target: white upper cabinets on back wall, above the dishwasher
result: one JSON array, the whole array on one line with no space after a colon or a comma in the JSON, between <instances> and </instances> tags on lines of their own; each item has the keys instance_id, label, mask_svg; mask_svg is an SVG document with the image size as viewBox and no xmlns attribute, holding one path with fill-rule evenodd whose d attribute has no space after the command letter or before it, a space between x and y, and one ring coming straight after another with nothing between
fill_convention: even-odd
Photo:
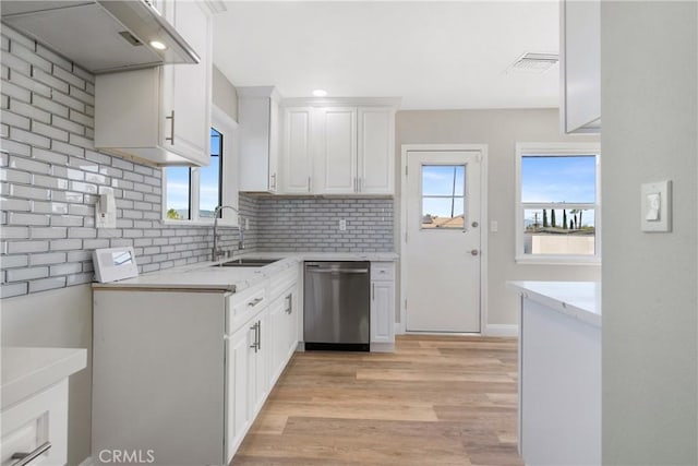
<instances>
[{"instance_id":1,"label":"white upper cabinets on back wall, above the dishwasher","mask_svg":"<svg viewBox=\"0 0 698 466\"><path fill-rule=\"evenodd\" d=\"M280 193L393 194L396 104L390 104L284 106Z\"/></svg>"}]
</instances>

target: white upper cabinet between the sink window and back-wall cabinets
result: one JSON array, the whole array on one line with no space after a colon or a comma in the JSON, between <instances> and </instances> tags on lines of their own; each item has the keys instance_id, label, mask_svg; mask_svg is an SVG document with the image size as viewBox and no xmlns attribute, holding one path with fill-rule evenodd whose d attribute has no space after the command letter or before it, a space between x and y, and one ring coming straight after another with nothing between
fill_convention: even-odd
<instances>
[{"instance_id":1,"label":"white upper cabinet between the sink window and back-wall cabinets","mask_svg":"<svg viewBox=\"0 0 698 466\"><path fill-rule=\"evenodd\" d=\"M272 86L238 87L240 191L276 192L279 97Z\"/></svg>"}]
</instances>

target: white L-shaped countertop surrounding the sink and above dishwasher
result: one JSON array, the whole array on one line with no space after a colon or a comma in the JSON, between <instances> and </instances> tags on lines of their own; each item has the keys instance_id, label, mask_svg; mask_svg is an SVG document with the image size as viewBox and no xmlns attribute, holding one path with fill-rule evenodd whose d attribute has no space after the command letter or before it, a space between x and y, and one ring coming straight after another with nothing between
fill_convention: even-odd
<instances>
[{"instance_id":1,"label":"white L-shaped countertop surrounding the sink and above dishwasher","mask_svg":"<svg viewBox=\"0 0 698 466\"><path fill-rule=\"evenodd\" d=\"M281 259L263 267L218 267L216 264L240 258ZM395 261L388 252L250 252L217 262L167 268L112 283L95 283L93 289L148 288L240 291L301 261ZM137 258L136 258L137 262Z\"/></svg>"}]
</instances>

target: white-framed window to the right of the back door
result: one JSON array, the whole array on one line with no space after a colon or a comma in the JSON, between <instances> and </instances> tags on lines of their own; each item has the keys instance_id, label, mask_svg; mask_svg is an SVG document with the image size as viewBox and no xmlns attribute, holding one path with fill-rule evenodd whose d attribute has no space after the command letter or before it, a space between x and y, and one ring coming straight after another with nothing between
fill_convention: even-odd
<instances>
[{"instance_id":1,"label":"white-framed window to the right of the back door","mask_svg":"<svg viewBox=\"0 0 698 466\"><path fill-rule=\"evenodd\" d=\"M601 261L601 153L597 143L516 146L516 261Z\"/></svg>"}]
</instances>

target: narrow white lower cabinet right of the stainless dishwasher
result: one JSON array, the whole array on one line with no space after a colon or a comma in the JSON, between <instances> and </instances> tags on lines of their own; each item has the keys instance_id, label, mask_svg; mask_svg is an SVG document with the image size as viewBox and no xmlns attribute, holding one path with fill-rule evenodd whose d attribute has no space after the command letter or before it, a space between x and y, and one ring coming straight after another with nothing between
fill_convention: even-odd
<instances>
[{"instance_id":1,"label":"narrow white lower cabinet right of the stainless dishwasher","mask_svg":"<svg viewBox=\"0 0 698 466\"><path fill-rule=\"evenodd\" d=\"M395 264L371 263L371 351L395 350Z\"/></svg>"}]
</instances>

